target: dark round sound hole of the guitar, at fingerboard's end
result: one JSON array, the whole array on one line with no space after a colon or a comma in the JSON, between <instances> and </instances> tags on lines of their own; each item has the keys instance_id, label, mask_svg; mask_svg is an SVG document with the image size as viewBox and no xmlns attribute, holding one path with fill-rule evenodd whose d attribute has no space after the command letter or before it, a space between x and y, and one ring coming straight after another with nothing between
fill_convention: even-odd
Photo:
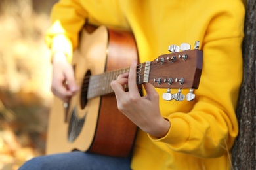
<instances>
[{"instance_id":1,"label":"dark round sound hole of the guitar, at fingerboard's end","mask_svg":"<svg viewBox=\"0 0 256 170\"><path fill-rule=\"evenodd\" d=\"M89 84L89 78L91 76L91 71L87 71L84 78L83 78L83 84L81 86L81 98L80 98L80 104L81 109L84 109L87 104L87 92L88 92L88 84Z\"/></svg>"}]
</instances>

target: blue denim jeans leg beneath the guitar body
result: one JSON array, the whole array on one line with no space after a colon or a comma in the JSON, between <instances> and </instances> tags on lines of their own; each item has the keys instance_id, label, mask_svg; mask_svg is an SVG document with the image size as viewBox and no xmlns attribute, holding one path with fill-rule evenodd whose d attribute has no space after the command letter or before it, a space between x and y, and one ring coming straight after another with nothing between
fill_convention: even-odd
<instances>
[{"instance_id":1,"label":"blue denim jeans leg beneath the guitar body","mask_svg":"<svg viewBox=\"0 0 256 170\"><path fill-rule=\"evenodd\" d=\"M131 169L130 158L116 158L85 152L68 152L64 154L52 154L39 156L27 161L19 170L36 169Z\"/></svg>"}]
</instances>

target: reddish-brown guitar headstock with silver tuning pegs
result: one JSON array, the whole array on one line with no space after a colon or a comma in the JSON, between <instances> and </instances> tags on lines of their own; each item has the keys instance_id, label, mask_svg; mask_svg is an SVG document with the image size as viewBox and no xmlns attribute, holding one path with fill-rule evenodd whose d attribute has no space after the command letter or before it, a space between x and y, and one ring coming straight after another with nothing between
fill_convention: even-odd
<instances>
[{"instance_id":1,"label":"reddish-brown guitar headstock with silver tuning pegs","mask_svg":"<svg viewBox=\"0 0 256 170\"><path fill-rule=\"evenodd\" d=\"M190 88L186 99L194 99L193 89L197 89L200 83L203 64L203 51L198 50L199 42L196 41L195 49L190 50L190 45L183 43L181 46L169 46L170 54L158 56L154 61L146 62L137 69L144 71L138 78L138 84L149 82L155 88L167 88L163 99L177 101L184 100L181 90ZM171 89L179 89L178 93L171 94Z\"/></svg>"}]
</instances>

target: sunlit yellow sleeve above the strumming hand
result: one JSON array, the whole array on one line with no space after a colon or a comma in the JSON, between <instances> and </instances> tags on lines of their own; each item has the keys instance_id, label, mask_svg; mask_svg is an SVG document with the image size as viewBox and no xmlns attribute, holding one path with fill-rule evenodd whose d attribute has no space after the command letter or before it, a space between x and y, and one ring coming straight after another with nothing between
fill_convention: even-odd
<instances>
[{"instance_id":1,"label":"sunlit yellow sleeve above the strumming hand","mask_svg":"<svg viewBox=\"0 0 256 170\"><path fill-rule=\"evenodd\" d=\"M52 55L62 51L68 61L72 61L72 53L77 48L79 31L85 24L87 12L77 0L60 0L53 7L51 22L53 25L45 35L47 46Z\"/></svg>"}]
</instances>

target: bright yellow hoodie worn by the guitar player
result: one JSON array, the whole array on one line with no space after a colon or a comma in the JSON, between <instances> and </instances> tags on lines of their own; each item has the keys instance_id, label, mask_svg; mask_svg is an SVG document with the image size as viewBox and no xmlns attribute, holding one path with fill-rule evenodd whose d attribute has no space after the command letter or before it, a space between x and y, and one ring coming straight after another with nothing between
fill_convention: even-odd
<instances>
[{"instance_id":1,"label":"bright yellow hoodie worn by the guitar player","mask_svg":"<svg viewBox=\"0 0 256 170\"><path fill-rule=\"evenodd\" d=\"M131 168L230 169L229 150L238 135L234 110L242 81L244 14L242 0L60 0L45 39L52 52L62 50L71 61L86 19L132 31L140 63L166 54L170 44L200 41L203 71L196 100L160 99L171 128L161 139L139 130Z\"/></svg>"}]
</instances>

